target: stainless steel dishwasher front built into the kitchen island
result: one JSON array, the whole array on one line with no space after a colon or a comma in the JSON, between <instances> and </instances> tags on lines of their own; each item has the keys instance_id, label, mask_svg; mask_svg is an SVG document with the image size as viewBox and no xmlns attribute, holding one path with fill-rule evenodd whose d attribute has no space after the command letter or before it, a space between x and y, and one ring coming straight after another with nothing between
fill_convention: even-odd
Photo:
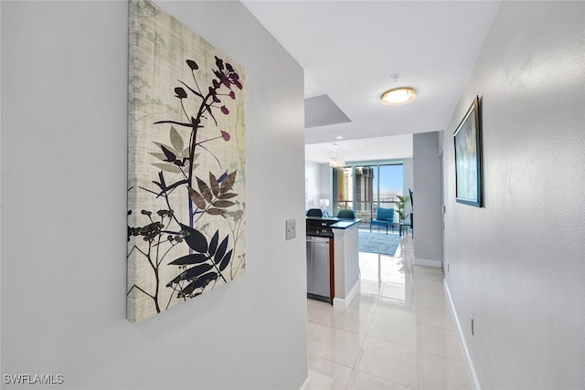
<instances>
[{"instance_id":1,"label":"stainless steel dishwasher front built into the kitchen island","mask_svg":"<svg viewBox=\"0 0 585 390\"><path fill-rule=\"evenodd\" d=\"M331 303L329 237L307 236L307 298Z\"/></svg>"}]
</instances>

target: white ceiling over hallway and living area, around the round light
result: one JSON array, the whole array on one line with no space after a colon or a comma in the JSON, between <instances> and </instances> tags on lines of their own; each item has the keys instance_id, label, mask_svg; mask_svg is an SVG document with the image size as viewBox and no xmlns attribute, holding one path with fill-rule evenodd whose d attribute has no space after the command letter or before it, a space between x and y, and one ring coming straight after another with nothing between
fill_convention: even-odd
<instances>
[{"instance_id":1,"label":"white ceiling over hallway and living area, around the round light","mask_svg":"<svg viewBox=\"0 0 585 390\"><path fill-rule=\"evenodd\" d=\"M499 0L242 3L303 67L305 98L326 94L351 120L305 129L305 158L318 163L335 156L335 142L346 161L410 157L412 137L392 136L445 130L500 5ZM390 79L395 73L401 75L396 82ZM417 90L417 99L399 107L380 103L385 90L402 86ZM405 139L410 155L391 154Z\"/></svg>"}]
</instances>

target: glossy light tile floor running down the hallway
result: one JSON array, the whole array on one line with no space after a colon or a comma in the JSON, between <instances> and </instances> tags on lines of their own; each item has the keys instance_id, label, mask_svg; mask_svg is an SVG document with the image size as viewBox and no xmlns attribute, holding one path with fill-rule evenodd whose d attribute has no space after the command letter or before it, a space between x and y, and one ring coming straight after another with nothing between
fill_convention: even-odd
<instances>
[{"instance_id":1,"label":"glossy light tile floor running down the hallway","mask_svg":"<svg viewBox=\"0 0 585 390\"><path fill-rule=\"evenodd\" d=\"M310 388L470 389L441 269L359 253L361 290L346 311L307 300Z\"/></svg>"}]
</instances>

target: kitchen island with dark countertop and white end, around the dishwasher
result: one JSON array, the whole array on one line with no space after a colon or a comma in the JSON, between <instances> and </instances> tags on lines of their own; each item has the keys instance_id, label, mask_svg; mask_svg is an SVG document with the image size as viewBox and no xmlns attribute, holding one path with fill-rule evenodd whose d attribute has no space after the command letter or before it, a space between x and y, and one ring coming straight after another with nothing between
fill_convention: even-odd
<instances>
[{"instance_id":1,"label":"kitchen island with dark countertop and white end, around the dishwasher","mask_svg":"<svg viewBox=\"0 0 585 390\"><path fill-rule=\"evenodd\" d=\"M361 219L307 217L308 237L333 237L330 282L332 303L337 309L347 309L359 290L357 227L360 222Z\"/></svg>"}]
</instances>

